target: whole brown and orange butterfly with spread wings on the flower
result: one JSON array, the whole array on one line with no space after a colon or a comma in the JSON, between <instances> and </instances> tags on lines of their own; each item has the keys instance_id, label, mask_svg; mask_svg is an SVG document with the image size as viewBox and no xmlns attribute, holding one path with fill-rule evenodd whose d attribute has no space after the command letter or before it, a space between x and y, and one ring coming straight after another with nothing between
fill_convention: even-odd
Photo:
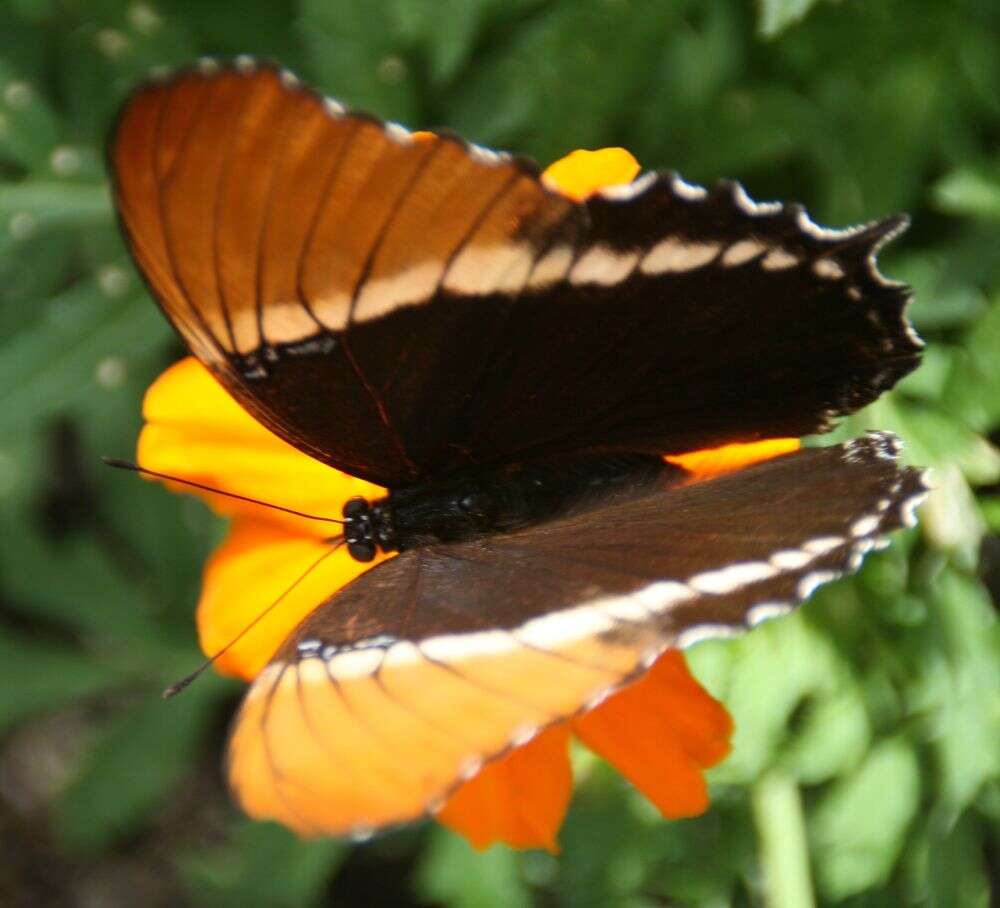
<instances>
[{"instance_id":1,"label":"whole brown and orange butterfly with spread wings on the flower","mask_svg":"<svg viewBox=\"0 0 1000 908\"><path fill-rule=\"evenodd\" d=\"M337 834L433 811L665 648L856 569L926 493L887 433L707 481L664 460L827 431L916 366L908 290L875 264L905 218L826 230L658 172L574 201L247 58L138 88L108 160L195 356L389 490L345 503L343 541L398 554L317 603L235 720L254 816Z\"/></svg>"}]
</instances>

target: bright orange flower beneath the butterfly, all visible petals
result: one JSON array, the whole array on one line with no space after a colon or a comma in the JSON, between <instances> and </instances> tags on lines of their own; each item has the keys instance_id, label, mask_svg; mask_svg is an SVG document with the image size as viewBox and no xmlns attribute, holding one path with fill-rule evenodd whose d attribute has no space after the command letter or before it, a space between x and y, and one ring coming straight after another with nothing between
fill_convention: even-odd
<instances>
[{"instance_id":1,"label":"bright orange flower beneath the butterfly, all visible petals","mask_svg":"<svg viewBox=\"0 0 1000 908\"><path fill-rule=\"evenodd\" d=\"M553 164L544 180L574 199L584 199L604 186L631 181L638 170L635 159L623 149L578 151ZM281 441L194 359L176 364L153 384L143 415L146 426L138 459L148 469L331 516L339 516L343 502L352 496L371 499L385 493ZM777 439L670 459L689 469L697 481L797 445L792 439ZM324 540L336 528L219 495L198 494L232 519L228 537L206 566L198 604L201 646L212 654L329 549ZM291 589L280 607L236 642L216 667L252 679L318 603L377 563L357 562L341 548ZM571 735L615 765L665 817L693 816L708 804L702 770L726 755L731 730L723 707L691 677L683 656L669 650L644 677L597 708L548 728L487 764L457 789L438 819L477 848L501 841L556 850L556 834L572 787L567 750Z\"/></svg>"}]
</instances>

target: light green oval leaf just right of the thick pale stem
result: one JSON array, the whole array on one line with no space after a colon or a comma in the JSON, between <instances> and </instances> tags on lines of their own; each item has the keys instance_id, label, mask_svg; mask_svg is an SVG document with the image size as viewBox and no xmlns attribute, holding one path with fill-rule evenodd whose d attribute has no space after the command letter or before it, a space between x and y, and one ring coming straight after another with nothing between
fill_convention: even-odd
<instances>
[{"instance_id":1,"label":"light green oval leaf just right of the thick pale stem","mask_svg":"<svg viewBox=\"0 0 1000 908\"><path fill-rule=\"evenodd\" d=\"M920 766L902 739L878 744L810 812L817 884L831 900L888 879L920 807Z\"/></svg>"}]
</instances>

